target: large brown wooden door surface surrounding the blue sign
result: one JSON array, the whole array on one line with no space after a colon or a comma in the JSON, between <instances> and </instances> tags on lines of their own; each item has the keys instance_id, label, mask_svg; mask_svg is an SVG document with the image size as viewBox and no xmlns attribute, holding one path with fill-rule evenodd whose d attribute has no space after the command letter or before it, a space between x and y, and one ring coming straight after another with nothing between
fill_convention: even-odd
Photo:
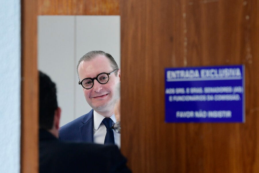
<instances>
[{"instance_id":1,"label":"large brown wooden door surface surrounding the blue sign","mask_svg":"<svg viewBox=\"0 0 259 173\"><path fill-rule=\"evenodd\" d=\"M259 172L258 6L121 1L121 142L133 172ZM232 64L245 65L245 123L164 123L165 67Z\"/></svg>"}]
</instances>

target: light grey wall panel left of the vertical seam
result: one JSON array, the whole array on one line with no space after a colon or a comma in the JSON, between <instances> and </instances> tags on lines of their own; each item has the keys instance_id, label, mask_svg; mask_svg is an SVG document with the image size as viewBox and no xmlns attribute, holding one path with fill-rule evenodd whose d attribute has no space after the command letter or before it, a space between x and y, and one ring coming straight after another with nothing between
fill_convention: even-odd
<instances>
[{"instance_id":1,"label":"light grey wall panel left of the vertical seam","mask_svg":"<svg viewBox=\"0 0 259 173\"><path fill-rule=\"evenodd\" d=\"M38 16L38 67L56 83L60 125L74 119L75 16Z\"/></svg>"}]
</instances>

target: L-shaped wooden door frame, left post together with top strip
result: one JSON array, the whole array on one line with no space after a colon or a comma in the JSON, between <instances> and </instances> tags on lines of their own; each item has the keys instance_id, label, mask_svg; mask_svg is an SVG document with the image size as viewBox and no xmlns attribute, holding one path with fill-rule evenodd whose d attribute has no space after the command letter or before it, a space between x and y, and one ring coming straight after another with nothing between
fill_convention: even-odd
<instances>
[{"instance_id":1,"label":"L-shaped wooden door frame, left post together with top strip","mask_svg":"<svg viewBox=\"0 0 259 173\"><path fill-rule=\"evenodd\" d=\"M37 15L119 15L119 0L22 0L21 172L38 172Z\"/></svg>"}]
</instances>

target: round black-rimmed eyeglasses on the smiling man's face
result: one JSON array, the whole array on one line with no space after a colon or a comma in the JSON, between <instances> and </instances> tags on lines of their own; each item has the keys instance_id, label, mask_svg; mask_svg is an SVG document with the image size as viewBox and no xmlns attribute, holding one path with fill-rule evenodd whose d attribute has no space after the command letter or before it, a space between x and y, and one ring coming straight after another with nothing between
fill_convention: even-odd
<instances>
[{"instance_id":1,"label":"round black-rimmed eyeglasses on the smiling man's face","mask_svg":"<svg viewBox=\"0 0 259 173\"><path fill-rule=\"evenodd\" d=\"M94 86L94 80L96 79L100 84L106 84L109 81L109 75L116 72L118 69L113 70L111 73L100 73L96 78L85 78L78 84L82 85L85 89L91 89Z\"/></svg>"}]
</instances>

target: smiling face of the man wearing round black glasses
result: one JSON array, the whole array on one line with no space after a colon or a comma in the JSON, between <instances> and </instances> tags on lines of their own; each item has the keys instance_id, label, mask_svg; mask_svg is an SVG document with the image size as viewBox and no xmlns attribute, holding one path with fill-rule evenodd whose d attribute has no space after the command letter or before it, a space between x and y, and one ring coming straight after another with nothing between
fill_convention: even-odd
<instances>
[{"instance_id":1,"label":"smiling face of the man wearing round black glasses","mask_svg":"<svg viewBox=\"0 0 259 173\"><path fill-rule=\"evenodd\" d=\"M110 73L113 69L107 57L98 55L89 61L82 61L78 67L78 76L80 81L85 78L95 78L100 73ZM120 70L118 73L109 75L109 81L106 84L100 84L94 80L94 86L91 89L82 87L85 100L99 114L111 116L116 101L115 86L120 82ZM105 115L104 115L105 114Z\"/></svg>"}]
</instances>

